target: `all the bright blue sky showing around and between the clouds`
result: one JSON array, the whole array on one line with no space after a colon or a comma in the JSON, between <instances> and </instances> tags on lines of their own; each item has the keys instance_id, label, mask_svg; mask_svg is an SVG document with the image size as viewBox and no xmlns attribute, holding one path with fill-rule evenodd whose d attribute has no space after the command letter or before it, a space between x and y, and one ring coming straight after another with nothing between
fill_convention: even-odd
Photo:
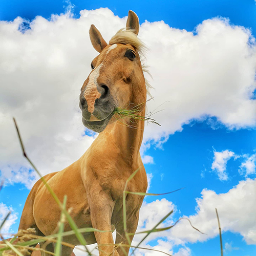
<instances>
[{"instance_id":1,"label":"all the bright blue sky showing around and between the clouds","mask_svg":"<svg viewBox=\"0 0 256 256\"><path fill-rule=\"evenodd\" d=\"M75 19L79 18L80 10L84 9L94 10L100 7L104 7L110 9L115 15L119 17L126 16L127 12L131 9L137 13L140 19L140 24L144 23L144 20L148 20L148 22L151 23L163 20L165 24L168 24L172 28L193 31L196 35L197 33L195 31L195 27L198 24L201 24L206 19L221 16L229 18L231 27L232 25L243 26L250 29L252 36L256 36L256 5L252 0L176 0L139 2L71 1L71 4L74 5L72 12L74 13L73 17ZM20 16L31 21L38 15L49 19L51 14L60 14L65 12L68 5L69 3L63 1L27 0L10 2L3 0L0 3L0 20L12 21L17 16ZM92 48L90 51L91 50ZM152 57L152 59L154 58ZM90 62L88 63L90 65ZM156 80L155 73L157 74L157 72L154 71L154 63L151 66L153 69L152 74L154 80ZM256 71L255 67L256 66L253 66L252 68L252 71L254 69L254 75ZM228 76L228 72L226 73ZM152 83L153 86L155 86L154 81ZM249 86L253 86L253 84L250 84ZM155 86L155 88L157 90L157 86ZM197 89L195 89L195 95L196 94ZM191 98L193 97L194 94L191 95ZM253 99L253 95L250 96L250 98ZM218 101L218 98L216 100ZM223 99L220 99L220 104L222 101ZM73 108L75 108L75 103L72 102L72 104L73 105L71 105L70 108L73 110ZM225 110L223 110L223 112L225 112ZM10 113L12 113L11 110ZM245 163L246 160L248 160L250 157L253 157L256 151L255 120L252 120L250 124L246 123L245 125L242 123L242 121L240 122L240 120L233 121L233 123L231 123L233 125L232 126L230 121L226 121L226 119L221 116L221 114L219 116L216 114L215 116L214 114L211 114L211 112L207 113L207 111L205 111L204 114L206 114L206 116L203 118L201 114L200 118L199 114L195 114L194 117L188 116L186 119L181 121L177 125L181 125L182 129L177 126L178 128L176 127L170 130L165 137L168 138L167 141L162 143L161 146L157 144L156 139L148 140L150 141L148 142L150 143L150 148L145 151L145 154L151 156L154 159L153 163L145 164L147 173L150 175L150 177L152 177L150 191L152 193L165 193L181 187L184 187L184 189L174 194L160 196L157 198L146 197L145 202L150 204L155 202L157 199L161 200L162 198L172 202L176 206L176 212L173 220L177 220L182 216L189 217L197 215L196 207L198 206L198 201L196 201L196 198L201 198L203 189L207 189L208 191L213 190L217 195L228 194L229 190L236 187L239 182L247 182L248 178L253 181L256 179L255 167L254 172L251 172L247 176L242 174L241 171L239 172L239 170L241 170L242 164ZM207 115L211 115L211 117L207 117ZM155 118L158 120L157 115ZM151 129L151 127L152 126L150 126L148 129ZM154 129L156 128L154 127ZM149 136L150 138L151 133L148 132L148 134L149 135L146 136ZM86 137L91 137L91 134L86 133ZM90 141L90 138L88 138L88 140ZM17 146L17 144L15 145ZM216 160L215 153L223 153L224 151L231 152L229 153L230 157L228 157L225 162L223 155L222 160L224 159L224 162L220 163ZM38 152L40 152L40 150L38 150ZM228 176L226 180L221 180L220 176L218 176L218 174L220 174L218 173L218 170L220 169L212 168L212 164L215 162L215 160L222 164L222 167L220 168L224 168L224 170L222 170ZM251 160L252 163L253 161L254 160ZM255 162L256 160L254 163ZM26 178L27 176L24 177L24 179ZM24 185L23 182L14 182L13 184L9 184L5 186L1 191L0 202L7 205L8 207L12 206L13 210L18 213L18 219L16 223L11 226L13 231L17 230L18 221L21 216L28 193L29 189ZM239 193L241 193L241 191ZM230 198L230 200L236 200L236 198ZM251 204L253 204L253 201ZM246 214L248 215L248 218L252 218L253 212L243 212L243 208L239 209L239 207L237 209L241 210L241 215ZM233 215L233 212L230 212L230 215ZM221 214L220 220L222 222ZM196 224L200 229L200 221L196 222ZM255 255L255 243L254 245L248 244L246 242L245 236L242 234L242 231L236 230L233 227L229 227L228 224L226 230L227 231L223 233L224 244L227 243L225 251L226 255ZM173 233L168 233L168 236L171 235L173 235ZM187 240L184 240L185 246L189 248L190 254L182 254L180 251L180 254L177 255L213 256L220 254L219 237L214 235L211 237L210 234L209 237L210 238L208 240L202 242L191 242L188 238L186 238ZM155 246L158 239L160 238L158 237L148 244ZM254 241L256 241L255 237L254 239ZM164 236L163 240L167 241L168 237ZM177 243L173 248L173 252L178 252L182 246L184 246L184 244Z\"/></svg>"}]
</instances>

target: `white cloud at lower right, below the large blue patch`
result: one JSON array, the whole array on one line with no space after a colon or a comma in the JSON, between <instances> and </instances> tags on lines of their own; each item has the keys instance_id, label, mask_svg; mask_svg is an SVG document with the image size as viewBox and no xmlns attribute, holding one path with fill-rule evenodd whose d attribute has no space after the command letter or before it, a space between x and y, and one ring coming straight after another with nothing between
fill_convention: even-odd
<instances>
[{"instance_id":1,"label":"white cloud at lower right, below the large blue patch","mask_svg":"<svg viewBox=\"0 0 256 256\"><path fill-rule=\"evenodd\" d=\"M205 234L181 221L170 230L176 243L196 243L218 236L219 229L215 208L221 223L222 232L240 233L247 244L256 244L256 179L240 181L227 193L216 194L215 191L204 189L202 197L197 199L196 214L188 219Z\"/></svg>"}]
</instances>

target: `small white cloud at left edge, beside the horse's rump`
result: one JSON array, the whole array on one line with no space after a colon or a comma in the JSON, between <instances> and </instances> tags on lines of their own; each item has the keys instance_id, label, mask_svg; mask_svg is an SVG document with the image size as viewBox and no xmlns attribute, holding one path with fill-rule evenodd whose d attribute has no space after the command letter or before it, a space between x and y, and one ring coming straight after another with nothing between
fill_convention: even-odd
<instances>
[{"instance_id":1,"label":"small white cloud at left edge, beside the horse's rump","mask_svg":"<svg viewBox=\"0 0 256 256\"><path fill-rule=\"evenodd\" d=\"M4 226L1 229L1 233L13 233L13 230L11 229L11 226L16 222L18 219L18 213L15 212L12 208L12 206L7 206L4 203L0 203L0 223L2 223L7 216L8 212L11 212L11 215L5 222ZM5 237L5 236L4 236ZM8 237L8 236L6 236Z\"/></svg>"}]
</instances>

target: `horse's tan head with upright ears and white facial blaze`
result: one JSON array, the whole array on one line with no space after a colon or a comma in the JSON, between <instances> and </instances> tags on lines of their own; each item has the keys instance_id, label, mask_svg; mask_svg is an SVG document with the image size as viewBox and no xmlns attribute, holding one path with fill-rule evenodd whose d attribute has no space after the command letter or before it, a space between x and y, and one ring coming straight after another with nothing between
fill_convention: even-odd
<instances>
[{"instance_id":1,"label":"horse's tan head with upright ears and white facial blaze","mask_svg":"<svg viewBox=\"0 0 256 256\"><path fill-rule=\"evenodd\" d=\"M117 107L136 106L146 100L140 60L144 45L138 32L139 19L133 11L129 11L126 29L119 30L109 45L91 25L90 39L99 55L91 62L92 71L81 88L79 106L83 125L95 132L105 129Z\"/></svg>"}]
</instances>

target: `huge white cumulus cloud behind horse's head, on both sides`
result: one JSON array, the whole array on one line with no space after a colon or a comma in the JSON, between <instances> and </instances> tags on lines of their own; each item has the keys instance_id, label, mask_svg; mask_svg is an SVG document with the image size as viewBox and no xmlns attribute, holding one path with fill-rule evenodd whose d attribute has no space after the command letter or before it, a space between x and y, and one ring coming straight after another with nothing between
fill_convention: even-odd
<instances>
[{"instance_id":1,"label":"huge white cumulus cloud behind horse's head, on both sides","mask_svg":"<svg viewBox=\"0 0 256 256\"><path fill-rule=\"evenodd\" d=\"M20 17L0 22L2 176L29 169L12 116L42 174L68 166L87 150L96 135L84 134L78 95L97 55L88 30L95 24L108 41L125 22L107 8L83 10L78 19L70 12L50 20L37 16L29 30ZM255 126L256 47L249 30L213 18L198 25L195 34L164 22L144 22L139 36L150 49L146 63L154 77L155 99L148 111L164 109L154 115L162 126L147 125L144 143L161 144L191 119L216 116L230 129ZM144 162L153 159L145 156ZM34 182L15 177L12 182L27 187Z\"/></svg>"}]
</instances>

